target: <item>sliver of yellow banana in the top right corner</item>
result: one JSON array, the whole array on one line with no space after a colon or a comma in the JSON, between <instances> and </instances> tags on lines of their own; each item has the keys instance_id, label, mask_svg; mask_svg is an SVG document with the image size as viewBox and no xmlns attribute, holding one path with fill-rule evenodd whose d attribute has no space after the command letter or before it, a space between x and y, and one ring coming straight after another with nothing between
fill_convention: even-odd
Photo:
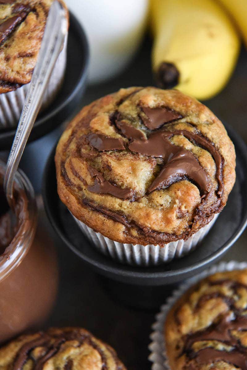
<instances>
[{"instance_id":1,"label":"sliver of yellow banana in the top right corner","mask_svg":"<svg viewBox=\"0 0 247 370\"><path fill-rule=\"evenodd\" d=\"M243 36L247 46L247 0L219 0L235 23Z\"/></svg>"}]
</instances>

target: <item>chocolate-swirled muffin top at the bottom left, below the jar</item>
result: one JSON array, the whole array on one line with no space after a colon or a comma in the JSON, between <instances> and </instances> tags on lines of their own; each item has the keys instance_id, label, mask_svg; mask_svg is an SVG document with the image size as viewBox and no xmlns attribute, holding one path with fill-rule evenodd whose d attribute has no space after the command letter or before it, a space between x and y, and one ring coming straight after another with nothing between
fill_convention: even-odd
<instances>
[{"instance_id":1,"label":"chocolate-swirled muffin top at the bottom left, below the jar","mask_svg":"<svg viewBox=\"0 0 247 370\"><path fill-rule=\"evenodd\" d=\"M1 370L125 370L116 352L81 328L22 335L0 348Z\"/></svg>"}]
</instances>

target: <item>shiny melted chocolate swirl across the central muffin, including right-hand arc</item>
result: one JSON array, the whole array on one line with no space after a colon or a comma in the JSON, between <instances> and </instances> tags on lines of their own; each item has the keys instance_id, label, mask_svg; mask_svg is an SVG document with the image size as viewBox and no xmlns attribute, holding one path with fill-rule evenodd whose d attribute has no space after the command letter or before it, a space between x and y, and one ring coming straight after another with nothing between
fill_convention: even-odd
<instances>
[{"instance_id":1,"label":"shiny melted chocolate swirl across the central muffin, including right-hand arc","mask_svg":"<svg viewBox=\"0 0 247 370\"><path fill-rule=\"evenodd\" d=\"M160 157L164 161L163 168L148 188L148 193L156 189L166 188L174 182L187 178L191 179L198 185L203 197L210 191L210 182L206 171L201 167L194 155L186 149L178 147L170 142L169 139L177 134L184 135L191 141L196 141L211 153L216 162L216 177L219 184L218 195L222 195L222 158L214 145L208 142L206 138L185 130L176 130L174 132L155 131L149 135L148 139L145 139L142 131L129 125L126 121L117 119L115 123L117 128L120 129L125 137L133 140L128 145L128 148L131 151L138 152L149 157ZM122 149L119 139L112 139L113 142L111 142L109 141L109 138L103 138L103 135L89 134L87 135L86 140L92 147L98 150L113 150L117 149L118 145L120 149Z\"/></svg>"}]
</instances>

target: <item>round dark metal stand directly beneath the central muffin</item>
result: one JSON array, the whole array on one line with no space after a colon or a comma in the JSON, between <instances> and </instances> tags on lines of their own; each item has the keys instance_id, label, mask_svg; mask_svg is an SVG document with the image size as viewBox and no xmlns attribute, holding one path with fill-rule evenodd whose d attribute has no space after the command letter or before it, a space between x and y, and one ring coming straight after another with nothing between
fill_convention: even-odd
<instances>
[{"instance_id":1,"label":"round dark metal stand directly beneath the central muffin","mask_svg":"<svg viewBox=\"0 0 247 370\"><path fill-rule=\"evenodd\" d=\"M91 268L119 282L150 286L170 285L195 275L220 259L247 224L247 147L233 128L226 128L236 148L236 184L215 225L200 246L189 255L164 265L147 268L122 265L101 255L84 237L57 195L55 148L50 154L43 180L44 204L53 228L63 242L84 262L91 265Z\"/></svg>"}]
</instances>

